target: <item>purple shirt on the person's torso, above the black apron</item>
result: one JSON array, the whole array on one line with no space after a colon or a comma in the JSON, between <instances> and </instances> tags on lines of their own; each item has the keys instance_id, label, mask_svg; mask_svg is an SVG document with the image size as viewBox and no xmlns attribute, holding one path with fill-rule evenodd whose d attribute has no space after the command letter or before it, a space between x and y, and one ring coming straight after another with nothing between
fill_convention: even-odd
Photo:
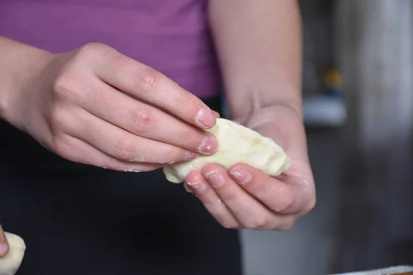
<instances>
[{"instance_id":1,"label":"purple shirt on the person's torso, above the black apron","mask_svg":"<svg viewBox=\"0 0 413 275\"><path fill-rule=\"evenodd\" d=\"M207 0L0 0L0 35L50 52L105 43L200 98L220 92Z\"/></svg>"}]
</instances>

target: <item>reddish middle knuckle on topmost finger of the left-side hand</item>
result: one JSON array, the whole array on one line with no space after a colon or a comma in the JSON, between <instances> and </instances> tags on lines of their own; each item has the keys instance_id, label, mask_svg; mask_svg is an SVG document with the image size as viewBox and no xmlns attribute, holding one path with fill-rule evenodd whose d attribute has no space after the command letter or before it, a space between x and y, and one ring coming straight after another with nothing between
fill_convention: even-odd
<instances>
[{"instance_id":1,"label":"reddish middle knuckle on topmost finger of the left-side hand","mask_svg":"<svg viewBox=\"0 0 413 275\"><path fill-rule=\"evenodd\" d=\"M160 72L150 67L144 69L137 69L131 74L131 81L135 83L140 89L145 91L156 91L162 85L163 76Z\"/></svg>"}]
</instances>

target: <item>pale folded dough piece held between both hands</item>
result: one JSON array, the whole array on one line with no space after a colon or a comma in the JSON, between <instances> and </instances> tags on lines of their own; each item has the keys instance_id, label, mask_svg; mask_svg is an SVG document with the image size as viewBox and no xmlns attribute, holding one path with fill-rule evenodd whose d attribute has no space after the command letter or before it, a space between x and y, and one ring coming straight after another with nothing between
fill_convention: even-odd
<instances>
[{"instance_id":1,"label":"pale folded dough piece held between both hands","mask_svg":"<svg viewBox=\"0 0 413 275\"><path fill-rule=\"evenodd\" d=\"M218 151L188 162L164 166L163 171L168 181L182 183L192 170L200 170L210 163L230 168L233 164L242 162L271 176L280 175L290 166L290 159L281 146L241 124L218 118L215 126L207 131L217 137Z\"/></svg>"}]
</instances>

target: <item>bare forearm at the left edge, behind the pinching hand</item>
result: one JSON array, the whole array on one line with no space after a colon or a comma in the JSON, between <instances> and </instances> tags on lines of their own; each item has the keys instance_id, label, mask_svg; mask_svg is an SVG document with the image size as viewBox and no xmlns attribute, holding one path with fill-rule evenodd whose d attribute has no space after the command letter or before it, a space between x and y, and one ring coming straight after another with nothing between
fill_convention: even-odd
<instances>
[{"instance_id":1,"label":"bare forearm at the left edge, behind the pinching hand","mask_svg":"<svg viewBox=\"0 0 413 275\"><path fill-rule=\"evenodd\" d=\"M50 53L0 36L0 120L12 120L11 106Z\"/></svg>"}]
</instances>

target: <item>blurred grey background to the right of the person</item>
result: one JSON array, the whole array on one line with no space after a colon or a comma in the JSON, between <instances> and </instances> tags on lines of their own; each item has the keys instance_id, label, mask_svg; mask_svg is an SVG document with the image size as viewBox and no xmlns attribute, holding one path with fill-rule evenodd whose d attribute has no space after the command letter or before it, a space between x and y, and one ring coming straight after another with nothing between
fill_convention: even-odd
<instances>
[{"instance_id":1,"label":"blurred grey background to the right of the person","mask_svg":"<svg viewBox=\"0 0 413 275\"><path fill-rule=\"evenodd\" d=\"M317 206L288 232L242 232L246 275L413 264L413 1L300 3Z\"/></svg>"}]
</instances>

